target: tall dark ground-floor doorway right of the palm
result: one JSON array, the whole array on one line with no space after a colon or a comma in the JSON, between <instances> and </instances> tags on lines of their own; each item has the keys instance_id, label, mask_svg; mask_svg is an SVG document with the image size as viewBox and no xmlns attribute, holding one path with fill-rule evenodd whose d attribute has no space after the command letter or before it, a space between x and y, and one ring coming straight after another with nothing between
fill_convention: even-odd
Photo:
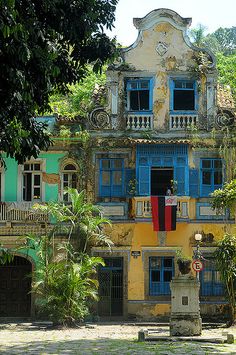
<instances>
[{"instance_id":1,"label":"tall dark ground-floor doorway right of the palm","mask_svg":"<svg viewBox=\"0 0 236 355\"><path fill-rule=\"evenodd\" d=\"M123 316L123 258L103 258L98 271L98 314L102 317Z\"/></svg>"}]
</instances>

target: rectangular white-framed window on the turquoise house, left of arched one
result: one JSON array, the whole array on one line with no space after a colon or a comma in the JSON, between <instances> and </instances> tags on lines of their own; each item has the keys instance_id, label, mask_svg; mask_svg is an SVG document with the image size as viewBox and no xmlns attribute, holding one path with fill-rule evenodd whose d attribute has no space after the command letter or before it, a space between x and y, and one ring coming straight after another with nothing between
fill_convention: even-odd
<instances>
[{"instance_id":1,"label":"rectangular white-framed window on the turquoise house, left of arched one","mask_svg":"<svg viewBox=\"0 0 236 355\"><path fill-rule=\"evenodd\" d=\"M23 201L33 201L41 199L41 163L25 163L23 168Z\"/></svg>"}]
</instances>

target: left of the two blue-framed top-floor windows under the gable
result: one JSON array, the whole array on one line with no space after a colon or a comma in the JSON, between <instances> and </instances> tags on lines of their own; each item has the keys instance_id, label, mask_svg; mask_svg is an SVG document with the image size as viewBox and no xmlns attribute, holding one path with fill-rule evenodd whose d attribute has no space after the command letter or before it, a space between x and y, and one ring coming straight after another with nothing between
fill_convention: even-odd
<instances>
[{"instance_id":1,"label":"left of the two blue-framed top-floor windows under the gable","mask_svg":"<svg viewBox=\"0 0 236 355\"><path fill-rule=\"evenodd\" d=\"M128 111L143 113L152 111L152 79L128 79L126 93Z\"/></svg>"}]
</instances>

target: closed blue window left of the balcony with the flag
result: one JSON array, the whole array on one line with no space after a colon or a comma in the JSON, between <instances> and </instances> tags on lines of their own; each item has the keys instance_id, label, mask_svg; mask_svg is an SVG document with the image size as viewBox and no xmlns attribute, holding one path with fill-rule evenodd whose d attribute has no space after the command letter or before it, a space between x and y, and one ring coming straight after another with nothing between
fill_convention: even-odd
<instances>
[{"instance_id":1,"label":"closed blue window left of the balcony with the flag","mask_svg":"<svg viewBox=\"0 0 236 355\"><path fill-rule=\"evenodd\" d=\"M99 196L124 196L124 159L100 159Z\"/></svg>"}]
</instances>

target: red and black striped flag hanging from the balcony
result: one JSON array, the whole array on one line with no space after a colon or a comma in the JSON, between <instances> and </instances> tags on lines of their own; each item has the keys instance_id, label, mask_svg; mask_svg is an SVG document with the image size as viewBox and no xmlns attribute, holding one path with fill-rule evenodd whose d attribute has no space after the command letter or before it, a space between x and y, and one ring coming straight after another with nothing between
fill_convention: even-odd
<instances>
[{"instance_id":1,"label":"red and black striped flag hanging from the balcony","mask_svg":"<svg viewBox=\"0 0 236 355\"><path fill-rule=\"evenodd\" d=\"M176 196L151 196L154 231L176 230Z\"/></svg>"}]
</instances>

